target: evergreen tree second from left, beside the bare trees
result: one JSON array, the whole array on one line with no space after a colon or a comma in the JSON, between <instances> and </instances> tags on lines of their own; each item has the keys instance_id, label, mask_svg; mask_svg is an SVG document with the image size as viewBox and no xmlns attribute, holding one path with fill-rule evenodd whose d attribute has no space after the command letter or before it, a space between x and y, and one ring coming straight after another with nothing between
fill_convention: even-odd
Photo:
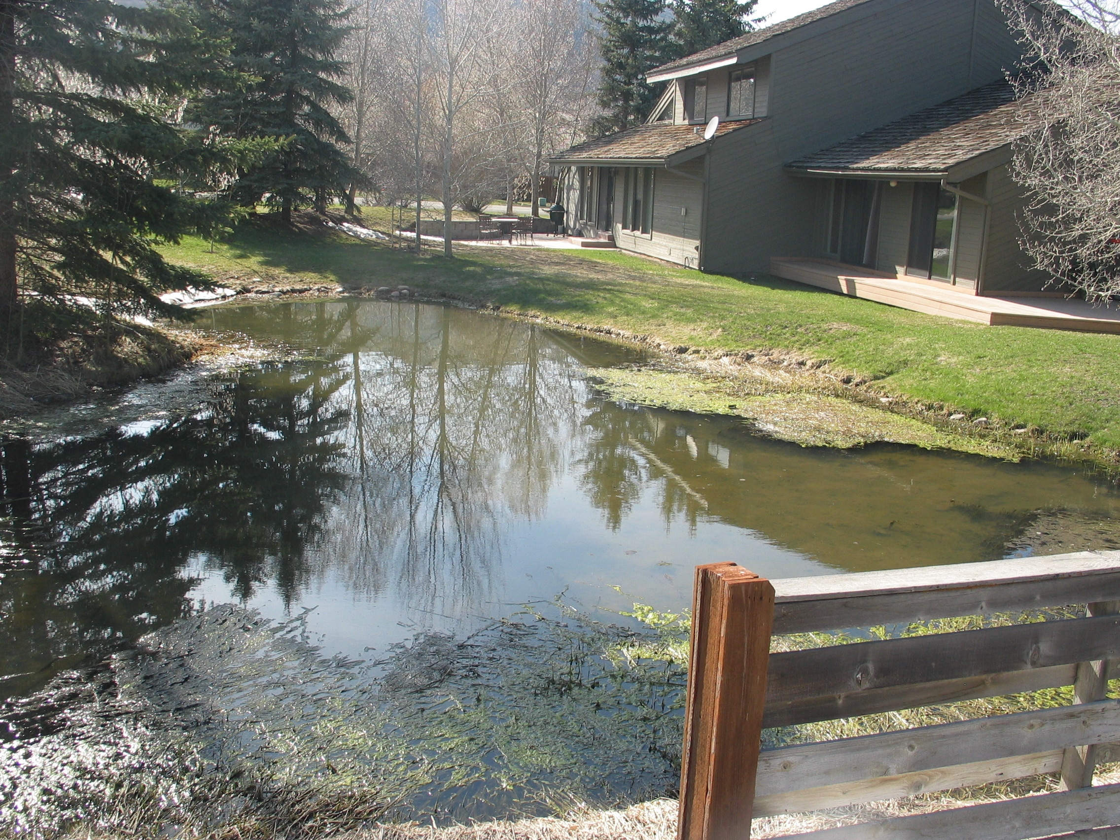
<instances>
[{"instance_id":1,"label":"evergreen tree second from left, beside the bare trees","mask_svg":"<svg viewBox=\"0 0 1120 840\"><path fill-rule=\"evenodd\" d=\"M197 102L189 115L228 137L283 138L286 143L242 174L234 195L245 206L264 199L286 222L295 208L326 211L332 195L356 177L339 146L348 144L333 105L353 94L337 80L335 57L347 28L343 0L193 0L198 26L231 40L230 69L252 77L239 91Z\"/></svg>"}]
</instances>

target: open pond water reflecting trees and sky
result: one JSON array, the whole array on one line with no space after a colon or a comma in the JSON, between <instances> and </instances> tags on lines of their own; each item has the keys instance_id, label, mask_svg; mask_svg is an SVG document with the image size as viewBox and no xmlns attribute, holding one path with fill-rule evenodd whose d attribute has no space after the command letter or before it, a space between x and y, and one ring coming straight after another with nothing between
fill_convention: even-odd
<instances>
[{"instance_id":1,"label":"open pond water reflecting trees and sky","mask_svg":"<svg viewBox=\"0 0 1120 840\"><path fill-rule=\"evenodd\" d=\"M559 592L679 609L702 562L772 578L970 562L1034 550L1039 511L1120 517L1116 488L1076 467L809 449L614 403L584 368L640 351L475 311L227 305L197 328L286 352L181 404L149 383L81 432L63 417L4 439L6 694L208 604L310 609L325 651L362 657Z\"/></svg>"}]
</instances>

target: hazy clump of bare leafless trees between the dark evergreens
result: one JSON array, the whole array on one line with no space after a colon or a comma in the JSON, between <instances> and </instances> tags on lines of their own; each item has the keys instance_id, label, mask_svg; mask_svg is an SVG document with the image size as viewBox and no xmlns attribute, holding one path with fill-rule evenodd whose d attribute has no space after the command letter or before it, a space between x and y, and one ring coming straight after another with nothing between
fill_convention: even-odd
<instances>
[{"instance_id":1,"label":"hazy clump of bare leafless trees between the dark evergreens","mask_svg":"<svg viewBox=\"0 0 1120 840\"><path fill-rule=\"evenodd\" d=\"M578 142L598 54L586 0L357 0L347 46L355 162L385 199L480 209ZM351 190L353 209L356 189ZM512 208L508 208L512 209ZM419 237L417 248L420 248Z\"/></svg>"}]
</instances>

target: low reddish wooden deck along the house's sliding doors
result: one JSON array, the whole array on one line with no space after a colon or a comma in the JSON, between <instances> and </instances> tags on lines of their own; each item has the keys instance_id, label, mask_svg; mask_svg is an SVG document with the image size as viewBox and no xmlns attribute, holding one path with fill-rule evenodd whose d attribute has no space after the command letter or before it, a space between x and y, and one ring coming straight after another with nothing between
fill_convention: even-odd
<instances>
[{"instance_id":1,"label":"low reddish wooden deck along the house's sliding doors","mask_svg":"<svg viewBox=\"0 0 1120 840\"><path fill-rule=\"evenodd\" d=\"M802 258L774 258L771 273L785 280L875 300L928 315L989 326L1042 327L1081 333L1120 333L1120 308L1046 297L990 297L941 283L904 280L853 265Z\"/></svg>"}]
</instances>

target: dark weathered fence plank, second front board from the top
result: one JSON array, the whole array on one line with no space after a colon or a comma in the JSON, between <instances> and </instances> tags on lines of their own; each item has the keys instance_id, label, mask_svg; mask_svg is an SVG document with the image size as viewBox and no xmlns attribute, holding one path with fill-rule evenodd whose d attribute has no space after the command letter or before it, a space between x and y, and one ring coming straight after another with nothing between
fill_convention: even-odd
<instances>
[{"instance_id":1,"label":"dark weathered fence plank, second front board from the top","mask_svg":"<svg viewBox=\"0 0 1120 840\"><path fill-rule=\"evenodd\" d=\"M775 653L768 703L1120 657L1120 616Z\"/></svg>"}]
</instances>

